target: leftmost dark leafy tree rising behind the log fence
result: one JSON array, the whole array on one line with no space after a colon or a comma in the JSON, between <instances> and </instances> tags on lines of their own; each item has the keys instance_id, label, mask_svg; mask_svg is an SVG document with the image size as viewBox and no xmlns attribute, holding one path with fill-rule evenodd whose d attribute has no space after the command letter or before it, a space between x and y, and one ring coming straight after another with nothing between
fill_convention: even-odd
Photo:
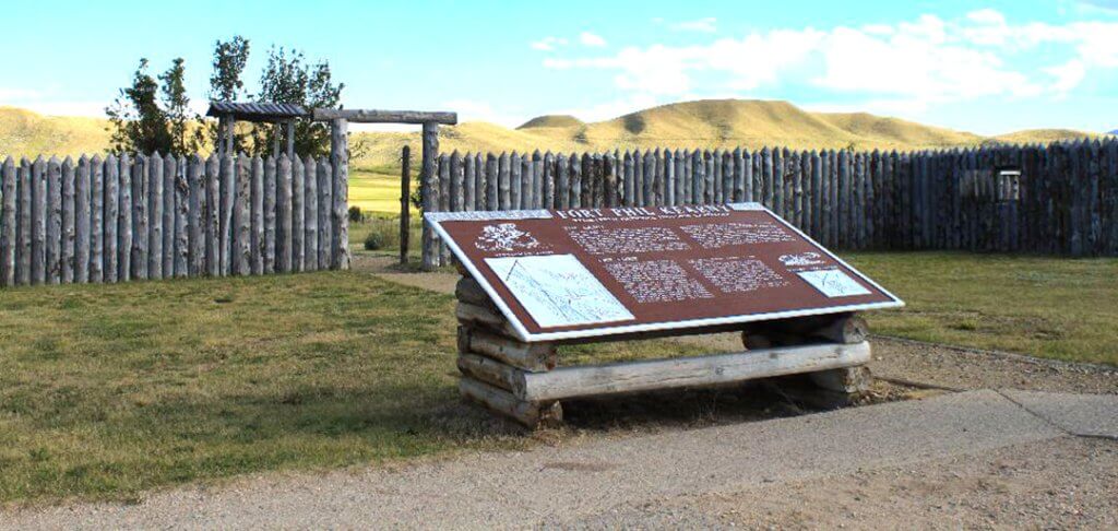
<instances>
[{"instance_id":1,"label":"leftmost dark leafy tree rising behind the log fence","mask_svg":"<svg viewBox=\"0 0 1118 531\"><path fill-rule=\"evenodd\" d=\"M110 139L113 151L171 151L171 133L167 114L157 102L158 94L159 83L148 74L148 59L141 58L132 75L132 85L122 88L113 104L105 107L113 131Z\"/></svg>"}]
</instances>

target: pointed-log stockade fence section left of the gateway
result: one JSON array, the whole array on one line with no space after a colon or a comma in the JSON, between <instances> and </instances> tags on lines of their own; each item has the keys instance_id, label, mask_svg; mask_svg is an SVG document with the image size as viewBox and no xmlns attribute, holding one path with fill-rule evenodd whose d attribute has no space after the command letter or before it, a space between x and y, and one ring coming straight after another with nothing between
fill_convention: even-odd
<instances>
[{"instance_id":1,"label":"pointed-log stockade fence section left of the gateway","mask_svg":"<svg viewBox=\"0 0 1118 531\"><path fill-rule=\"evenodd\" d=\"M8 158L0 285L348 268L347 167L344 152Z\"/></svg>"}]
</instances>

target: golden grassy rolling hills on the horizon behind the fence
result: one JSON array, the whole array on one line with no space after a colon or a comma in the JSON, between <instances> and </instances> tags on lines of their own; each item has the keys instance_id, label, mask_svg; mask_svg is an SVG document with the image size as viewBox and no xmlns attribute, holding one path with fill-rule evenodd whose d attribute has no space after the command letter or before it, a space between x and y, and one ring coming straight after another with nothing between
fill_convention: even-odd
<instances>
[{"instance_id":1,"label":"golden grassy rolling hills on the horizon behind the fence","mask_svg":"<svg viewBox=\"0 0 1118 531\"><path fill-rule=\"evenodd\" d=\"M0 155L77 155L108 144L103 118L41 116L0 107ZM982 142L1051 142L1092 136L1071 130L1030 130L984 138L868 113L816 113L790 103L705 99L646 108L603 122L544 115L517 129L485 122L444 127L442 151L588 151L634 148L935 149ZM405 144L418 150L419 132L351 134L358 168L395 167ZM418 153L415 155L418 157Z\"/></svg>"}]
</instances>

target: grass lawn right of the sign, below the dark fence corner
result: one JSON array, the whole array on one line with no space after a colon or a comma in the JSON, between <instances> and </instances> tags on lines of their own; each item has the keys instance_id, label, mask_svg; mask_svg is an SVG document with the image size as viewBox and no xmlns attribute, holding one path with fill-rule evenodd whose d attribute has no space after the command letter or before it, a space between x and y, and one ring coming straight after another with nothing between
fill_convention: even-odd
<instances>
[{"instance_id":1,"label":"grass lawn right of the sign, below the dark fence corner","mask_svg":"<svg viewBox=\"0 0 1118 531\"><path fill-rule=\"evenodd\" d=\"M874 332L1118 366L1118 259L849 253L908 305Z\"/></svg>"}]
</instances>

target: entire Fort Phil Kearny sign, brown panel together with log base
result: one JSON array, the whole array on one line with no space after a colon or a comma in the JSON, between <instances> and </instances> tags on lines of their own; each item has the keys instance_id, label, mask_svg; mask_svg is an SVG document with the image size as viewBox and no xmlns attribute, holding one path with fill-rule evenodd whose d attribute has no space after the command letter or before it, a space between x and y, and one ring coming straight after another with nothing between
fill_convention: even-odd
<instances>
[{"instance_id":1,"label":"entire Fort Phil Kearny sign, brown panel together with log base","mask_svg":"<svg viewBox=\"0 0 1118 531\"><path fill-rule=\"evenodd\" d=\"M757 203L429 212L458 281L459 389L528 426L560 400L807 373L865 390L858 312L903 302ZM745 350L560 367L568 343L741 332Z\"/></svg>"}]
</instances>

